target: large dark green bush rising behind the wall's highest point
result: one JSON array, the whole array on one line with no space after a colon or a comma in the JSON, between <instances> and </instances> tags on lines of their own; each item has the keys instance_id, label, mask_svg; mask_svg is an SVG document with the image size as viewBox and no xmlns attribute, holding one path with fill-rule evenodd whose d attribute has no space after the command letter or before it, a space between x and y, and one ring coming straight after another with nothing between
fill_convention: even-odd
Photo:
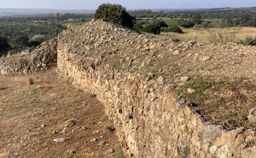
<instances>
[{"instance_id":1,"label":"large dark green bush rising behind the wall's highest point","mask_svg":"<svg viewBox=\"0 0 256 158\"><path fill-rule=\"evenodd\" d=\"M101 4L96 13L94 14L95 19L107 19L110 22L122 25L124 27L133 28L135 18L129 15L125 7L119 4Z\"/></svg>"}]
</instances>

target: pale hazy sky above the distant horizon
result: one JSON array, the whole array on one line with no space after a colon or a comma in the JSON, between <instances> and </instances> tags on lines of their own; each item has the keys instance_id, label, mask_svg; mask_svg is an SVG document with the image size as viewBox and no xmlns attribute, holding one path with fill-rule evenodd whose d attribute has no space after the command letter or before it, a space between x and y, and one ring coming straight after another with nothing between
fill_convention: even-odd
<instances>
[{"instance_id":1,"label":"pale hazy sky above the distant horizon","mask_svg":"<svg viewBox=\"0 0 256 158\"><path fill-rule=\"evenodd\" d=\"M256 0L0 0L0 8L97 9L102 3L119 3L127 9L213 8L256 6Z\"/></svg>"}]
</instances>

